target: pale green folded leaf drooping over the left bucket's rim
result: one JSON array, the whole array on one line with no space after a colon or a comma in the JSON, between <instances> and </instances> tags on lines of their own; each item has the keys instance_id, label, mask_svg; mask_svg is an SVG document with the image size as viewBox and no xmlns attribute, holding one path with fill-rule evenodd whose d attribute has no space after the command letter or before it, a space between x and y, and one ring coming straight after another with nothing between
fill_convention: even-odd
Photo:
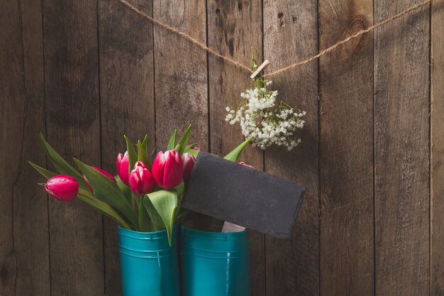
<instances>
[{"instance_id":1,"label":"pale green folded leaf drooping over the left bucket's rim","mask_svg":"<svg viewBox=\"0 0 444 296\"><path fill-rule=\"evenodd\" d=\"M146 194L143 199L143 204L147 209L148 213L152 212L152 207L154 207L157 214L163 221L168 234L168 243L172 241L172 228L174 225L174 218L177 212L177 193L171 190L160 190L149 194ZM152 217L151 217L152 219ZM154 219L152 219L154 221Z\"/></svg>"}]
</instances>

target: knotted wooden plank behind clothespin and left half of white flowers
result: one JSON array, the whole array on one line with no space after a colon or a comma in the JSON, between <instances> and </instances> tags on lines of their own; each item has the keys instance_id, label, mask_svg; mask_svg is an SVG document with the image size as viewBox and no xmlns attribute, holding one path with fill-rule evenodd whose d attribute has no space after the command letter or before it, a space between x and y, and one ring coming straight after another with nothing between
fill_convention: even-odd
<instances>
[{"instance_id":1,"label":"knotted wooden plank behind clothespin and left half of white flowers","mask_svg":"<svg viewBox=\"0 0 444 296\"><path fill-rule=\"evenodd\" d=\"M208 44L218 53L250 65L251 46L262 62L262 5L260 1L208 1ZM226 155L244 141L240 128L225 121L226 106L242 102L240 93L250 85L250 75L209 56L209 99L211 153ZM263 169L263 153L249 146L241 158ZM265 295L265 241L262 234L250 232L251 295Z\"/></svg>"}]
</instances>

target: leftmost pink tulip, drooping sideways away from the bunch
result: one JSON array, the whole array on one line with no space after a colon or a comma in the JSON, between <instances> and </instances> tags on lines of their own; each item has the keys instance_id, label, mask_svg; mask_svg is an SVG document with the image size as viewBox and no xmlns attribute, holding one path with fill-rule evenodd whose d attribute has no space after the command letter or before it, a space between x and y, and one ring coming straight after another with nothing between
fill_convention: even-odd
<instances>
[{"instance_id":1,"label":"leftmost pink tulip, drooping sideways away from the bunch","mask_svg":"<svg viewBox=\"0 0 444 296\"><path fill-rule=\"evenodd\" d=\"M79 183L70 175L57 175L48 179L45 191L62 202L71 202L79 193Z\"/></svg>"}]
</instances>

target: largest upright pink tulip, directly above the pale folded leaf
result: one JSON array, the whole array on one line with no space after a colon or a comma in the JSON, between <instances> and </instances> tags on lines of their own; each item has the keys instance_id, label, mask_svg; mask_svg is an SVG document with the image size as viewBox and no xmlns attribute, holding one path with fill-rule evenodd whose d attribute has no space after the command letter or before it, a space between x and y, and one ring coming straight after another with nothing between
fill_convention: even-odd
<instances>
[{"instance_id":1,"label":"largest upright pink tulip, directly above the pale folded leaf","mask_svg":"<svg viewBox=\"0 0 444 296\"><path fill-rule=\"evenodd\" d=\"M182 182L182 158L177 150L167 150L165 153L157 153L152 163L152 177L157 185L166 190L176 187Z\"/></svg>"}]
</instances>

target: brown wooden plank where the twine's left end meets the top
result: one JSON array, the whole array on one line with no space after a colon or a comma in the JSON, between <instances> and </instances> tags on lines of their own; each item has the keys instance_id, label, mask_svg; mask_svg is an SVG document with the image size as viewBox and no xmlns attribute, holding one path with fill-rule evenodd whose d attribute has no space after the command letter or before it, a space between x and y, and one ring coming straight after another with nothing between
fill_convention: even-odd
<instances>
[{"instance_id":1,"label":"brown wooden plank where the twine's left end meets the top","mask_svg":"<svg viewBox=\"0 0 444 296\"><path fill-rule=\"evenodd\" d=\"M152 14L152 1L132 1ZM155 146L152 23L118 0L99 0L101 155L105 170L116 173L116 155L148 133ZM122 295L116 223L104 219L106 295Z\"/></svg>"}]
</instances>

